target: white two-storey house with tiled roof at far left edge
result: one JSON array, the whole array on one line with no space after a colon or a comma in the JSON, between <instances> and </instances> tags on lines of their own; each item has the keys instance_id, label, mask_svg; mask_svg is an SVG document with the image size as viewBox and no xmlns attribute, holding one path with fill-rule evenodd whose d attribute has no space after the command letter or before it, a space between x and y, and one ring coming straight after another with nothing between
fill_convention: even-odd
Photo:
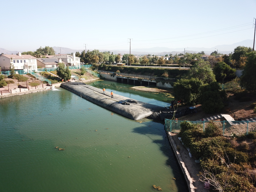
<instances>
[{"instance_id":1,"label":"white two-storey house with tiled roof at far left edge","mask_svg":"<svg viewBox=\"0 0 256 192\"><path fill-rule=\"evenodd\" d=\"M17 55L1 55L0 67L2 71L10 70L10 64L13 64L14 70L37 70L36 58L31 55L22 55L20 52Z\"/></svg>"}]
</instances>

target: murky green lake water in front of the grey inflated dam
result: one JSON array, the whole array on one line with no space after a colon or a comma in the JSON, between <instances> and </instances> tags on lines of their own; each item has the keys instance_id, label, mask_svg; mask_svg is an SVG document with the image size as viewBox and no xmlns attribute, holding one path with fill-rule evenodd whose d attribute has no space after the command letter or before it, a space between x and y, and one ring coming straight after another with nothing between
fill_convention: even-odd
<instances>
[{"instance_id":1,"label":"murky green lake water in front of the grey inflated dam","mask_svg":"<svg viewBox=\"0 0 256 192\"><path fill-rule=\"evenodd\" d=\"M131 93L166 105L141 95ZM0 99L0 191L157 191L152 185L188 191L162 123L124 118L62 88Z\"/></svg>"}]
</instances>

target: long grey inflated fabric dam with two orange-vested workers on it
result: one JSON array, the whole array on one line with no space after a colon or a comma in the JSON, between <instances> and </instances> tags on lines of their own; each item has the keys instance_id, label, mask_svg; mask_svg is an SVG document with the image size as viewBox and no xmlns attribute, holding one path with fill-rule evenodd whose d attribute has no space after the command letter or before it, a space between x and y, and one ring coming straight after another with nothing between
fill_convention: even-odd
<instances>
[{"instance_id":1,"label":"long grey inflated fabric dam with two orange-vested workers on it","mask_svg":"<svg viewBox=\"0 0 256 192\"><path fill-rule=\"evenodd\" d=\"M104 95L101 89L80 82L62 83L60 87L71 91L101 107L133 120L145 118L150 116L155 111L165 109L164 107L132 100L128 97L123 97L116 94L114 94L113 99L111 99L110 92L106 91Z\"/></svg>"}]
</instances>

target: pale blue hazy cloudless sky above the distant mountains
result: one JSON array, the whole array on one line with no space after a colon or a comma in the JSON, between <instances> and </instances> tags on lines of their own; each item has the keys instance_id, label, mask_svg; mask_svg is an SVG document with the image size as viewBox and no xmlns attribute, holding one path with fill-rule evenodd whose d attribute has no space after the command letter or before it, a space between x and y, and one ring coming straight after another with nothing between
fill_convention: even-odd
<instances>
[{"instance_id":1,"label":"pale blue hazy cloudless sky above the distant mountains","mask_svg":"<svg viewBox=\"0 0 256 192\"><path fill-rule=\"evenodd\" d=\"M9 51L210 48L253 39L256 0L10 0L0 17Z\"/></svg>"}]
</instances>

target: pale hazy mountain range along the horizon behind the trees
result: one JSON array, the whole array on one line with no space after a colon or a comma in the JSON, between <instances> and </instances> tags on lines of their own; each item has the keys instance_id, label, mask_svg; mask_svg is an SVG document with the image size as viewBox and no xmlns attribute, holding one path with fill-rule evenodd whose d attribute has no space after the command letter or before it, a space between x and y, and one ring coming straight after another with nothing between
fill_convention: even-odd
<instances>
[{"instance_id":1,"label":"pale hazy mountain range along the horizon behind the trees","mask_svg":"<svg viewBox=\"0 0 256 192\"><path fill-rule=\"evenodd\" d=\"M216 51L216 49L218 49L219 53L223 53L223 54L229 54L231 52L234 52L234 49L238 46L245 46L245 47L252 47L253 46L253 40L244 40L241 42L237 42L234 43L232 45L216 45L214 47L211 48L205 48L205 47L187 47L186 48L186 52L189 53L197 53L197 52L201 52L204 51L205 54L209 55L211 54L211 52ZM67 47L52 47L55 51L56 54L71 54L73 52L82 52L82 49L79 50L75 50L75 49L69 49ZM90 50L92 51L92 50ZM110 51L113 52L113 54L129 54L130 51L129 50L99 50L100 52L104 52L104 51ZM22 52L22 51L8 51L6 49L2 49L0 48L0 53L4 53L4 54L17 54L18 52ZM145 49L131 49L131 53L133 55L146 55L146 54L150 54L150 55L175 55L176 53L184 53L184 47L183 48L168 48L168 47L152 47L152 48L145 48Z\"/></svg>"}]
</instances>

